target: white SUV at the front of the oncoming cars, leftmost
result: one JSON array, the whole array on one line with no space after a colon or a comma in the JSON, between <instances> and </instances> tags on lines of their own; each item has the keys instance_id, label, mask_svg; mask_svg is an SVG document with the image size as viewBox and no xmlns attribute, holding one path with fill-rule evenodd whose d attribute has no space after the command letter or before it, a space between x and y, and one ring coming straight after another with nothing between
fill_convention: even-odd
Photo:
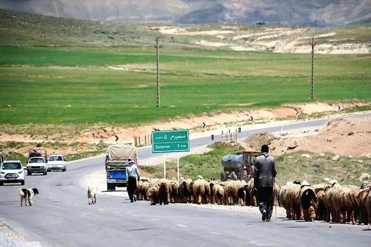
<instances>
[{"instance_id":1,"label":"white SUV at the front of the oncoming cars, leftmost","mask_svg":"<svg viewBox=\"0 0 371 247\"><path fill-rule=\"evenodd\" d=\"M0 168L0 186L4 183L24 185L24 171L20 160L4 161Z\"/></svg>"}]
</instances>

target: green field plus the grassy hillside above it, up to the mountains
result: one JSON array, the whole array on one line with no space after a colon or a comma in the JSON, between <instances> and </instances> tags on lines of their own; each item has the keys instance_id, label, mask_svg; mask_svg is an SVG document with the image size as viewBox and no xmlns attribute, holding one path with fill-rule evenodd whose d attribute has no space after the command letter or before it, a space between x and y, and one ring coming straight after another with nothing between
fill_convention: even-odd
<instances>
[{"instance_id":1,"label":"green field plus the grassy hillside above it, up to the mountains","mask_svg":"<svg viewBox=\"0 0 371 247\"><path fill-rule=\"evenodd\" d=\"M0 128L8 128L6 124L138 126L175 117L313 101L309 99L310 54L200 49L191 41L218 39L202 35L174 38L154 29L171 26L164 23L84 21L5 10L0 10L0 18ZM226 34L229 43L240 32L270 28L236 26L236 33ZM181 27L221 29L220 24ZM370 40L370 27L307 28L301 35L336 32L318 43L331 39L362 43ZM162 44L159 108L156 36ZM371 100L371 54L316 54L314 101L351 100Z\"/></svg>"}]
</instances>

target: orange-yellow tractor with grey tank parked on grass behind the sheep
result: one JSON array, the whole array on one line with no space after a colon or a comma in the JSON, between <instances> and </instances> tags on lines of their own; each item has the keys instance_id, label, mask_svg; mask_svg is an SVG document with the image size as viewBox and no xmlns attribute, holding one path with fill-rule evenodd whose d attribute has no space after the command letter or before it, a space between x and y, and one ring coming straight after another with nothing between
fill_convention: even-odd
<instances>
[{"instance_id":1,"label":"orange-yellow tractor with grey tank parked on grass behind the sheep","mask_svg":"<svg viewBox=\"0 0 371 247\"><path fill-rule=\"evenodd\" d=\"M221 158L223 171L220 174L220 181L244 180L248 182L251 177L251 167L261 152L242 151L236 154L228 154Z\"/></svg>"}]
</instances>

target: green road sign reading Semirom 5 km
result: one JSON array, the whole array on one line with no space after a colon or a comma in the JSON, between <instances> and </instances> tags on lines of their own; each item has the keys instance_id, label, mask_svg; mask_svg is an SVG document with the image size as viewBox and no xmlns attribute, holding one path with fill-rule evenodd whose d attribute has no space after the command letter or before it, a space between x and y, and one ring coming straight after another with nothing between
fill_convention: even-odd
<instances>
[{"instance_id":1,"label":"green road sign reading Semirom 5 km","mask_svg":"<svg viewBox=\"0 0 371 247\"><path fill-rule=\"evenodd\" d=\"M189 151L188 130L152 131L152 153Z\"/></svg>"}]
</instances>

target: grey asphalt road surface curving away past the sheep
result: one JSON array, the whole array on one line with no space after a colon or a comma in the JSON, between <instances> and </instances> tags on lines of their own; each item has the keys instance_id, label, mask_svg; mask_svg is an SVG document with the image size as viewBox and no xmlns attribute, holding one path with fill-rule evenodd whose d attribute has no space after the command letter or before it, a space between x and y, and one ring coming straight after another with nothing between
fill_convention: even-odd
<instances>
[{"instance_id":1,"label":"grey asphalt road surface curving away past the sheep","mask_svg":"<svg viewBox=\"0 0 371 247\"><path fill-rule=\"evenodd\" d=\"M370 113L357 116L366 117ZM325 121L289 124L285 130L313 125L320 127ZM281 126L249 130L244 131L240 137L261 131L280 130ZM190 146L195 148L210 142L210 137L198 138L191 140ZM154 157L150 152L148 147L140 148L138 157ZM36 187L40 191L34 197L32 207L20 207L17 194L20 185L5 184L0 187L0 221L28 240L39 241L42 246L370 245L371 227L367 226L284 218L272 218L272 222L267 223L252 213L182 204L150 206L149 201L129 203L127 197L100 194L97 204L88 205L86 190L82 188L81 181L103 166L104 157L100 156L69 162L66 172L26 176L25 187Z\"/></svg>"}]
</instances>

